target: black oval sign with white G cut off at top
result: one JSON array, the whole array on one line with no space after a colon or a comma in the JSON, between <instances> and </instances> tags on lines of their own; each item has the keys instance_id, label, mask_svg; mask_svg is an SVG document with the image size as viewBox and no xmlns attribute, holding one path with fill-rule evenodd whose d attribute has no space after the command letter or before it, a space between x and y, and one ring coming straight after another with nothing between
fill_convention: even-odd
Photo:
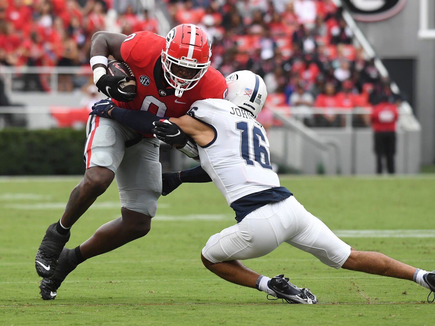
<instances>
[{"instance_id":1,"label":"black oval sign with white G cut off at top","mask_svg":"<svg viewBox=\"0 0 435 326\"><path fill-rule=\"evenodd\" d=\"M351 11L356 20L373 22L393 17L402 10L406 0L341 0L341 2Z\"/></svg>"}]
</instances>

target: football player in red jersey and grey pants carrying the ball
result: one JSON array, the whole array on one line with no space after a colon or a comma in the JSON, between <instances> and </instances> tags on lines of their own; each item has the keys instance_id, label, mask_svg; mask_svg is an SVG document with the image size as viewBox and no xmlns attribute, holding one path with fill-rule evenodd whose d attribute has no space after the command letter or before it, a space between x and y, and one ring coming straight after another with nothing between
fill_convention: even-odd
<instances>
[{"instance_id":1,"label":"football player in red jersey and grey pants carrying the ball","mask_svg":"<svg viewBox=\"0 0 435 326\"><path fill-rule=\"evenodd\" d=\"M91 40L90 65L98 89L117 106L180 117L197 100L226 95L224 77L210 67L210 46L206 33L193 24L173 28L166 38L147 31L129 36L97 32ZM118 90L125 77L107 75L109 55L131 68L136 94ZM55 299L62 281L79 263L145 236L161 195L160 141L152 134L139 134L115 120L92 115L87 135L84 178L71 192L60 220L48 227L35 258L45 300ZM114 177L121 217L101 226L80 246L64 248L71 226Z\"/></svg>"}]
</instances>

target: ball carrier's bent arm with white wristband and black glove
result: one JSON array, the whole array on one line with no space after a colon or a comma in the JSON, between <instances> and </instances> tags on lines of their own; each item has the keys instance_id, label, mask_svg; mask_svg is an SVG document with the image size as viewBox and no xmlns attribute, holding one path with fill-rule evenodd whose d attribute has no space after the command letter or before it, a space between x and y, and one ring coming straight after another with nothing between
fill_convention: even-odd
<instances>
[{"instance_id":1,"label":"ball carrier's bent arm with white wristband and black glove","mask_svg":"<svg viewBox=\"0 0 435 326\"><path fill-rule=\"evenodd\" d=\"M119 92L118 85L130 81L130 78L107 75L107 57L111 55L116 60L123 61L121 45L126 38L127 35L124 34L100 31L90 41L90 67L94 71L95 85L101 93L121 102L133 100L136 94Z\"/></svg>"}]
</instances>

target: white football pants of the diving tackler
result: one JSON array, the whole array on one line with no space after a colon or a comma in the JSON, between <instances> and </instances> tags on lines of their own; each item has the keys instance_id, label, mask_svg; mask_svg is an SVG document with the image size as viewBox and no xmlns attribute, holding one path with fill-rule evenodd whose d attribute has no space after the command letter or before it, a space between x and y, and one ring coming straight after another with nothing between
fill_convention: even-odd
<instances>
[{"instance_id":1,"label":"white football pants of the diving tackler","mask_svg":"<svg viewBox=\"0 0 435 326\"><path fill-rule=\"evenodd\" d=\"M203 256L212 263L264 256L286 242L340 268L351 247L305 210L294 196L249 213L240 223L208 239Z\"/></svg>"}]
</instances>

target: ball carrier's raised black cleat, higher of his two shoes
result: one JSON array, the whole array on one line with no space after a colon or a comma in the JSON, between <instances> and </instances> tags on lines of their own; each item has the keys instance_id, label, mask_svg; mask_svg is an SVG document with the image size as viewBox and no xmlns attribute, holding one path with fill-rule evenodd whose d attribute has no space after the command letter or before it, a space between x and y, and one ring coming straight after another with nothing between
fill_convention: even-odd
<instances>
[{"instance_id":1,"label":"ball carrier's raised black cleat, higher of his two shoes","mask_svg":"<svg viewBox=\"0 0 435 326\"><path fill-rule=\"evenodd\" d=\"M56 224L51 224L38 248L35 257L36 272L41 277L51 277L54 274L62 248L70 240L70 231L68 234L63 235L57 232Z\"/></svg>"}]
</instances>

